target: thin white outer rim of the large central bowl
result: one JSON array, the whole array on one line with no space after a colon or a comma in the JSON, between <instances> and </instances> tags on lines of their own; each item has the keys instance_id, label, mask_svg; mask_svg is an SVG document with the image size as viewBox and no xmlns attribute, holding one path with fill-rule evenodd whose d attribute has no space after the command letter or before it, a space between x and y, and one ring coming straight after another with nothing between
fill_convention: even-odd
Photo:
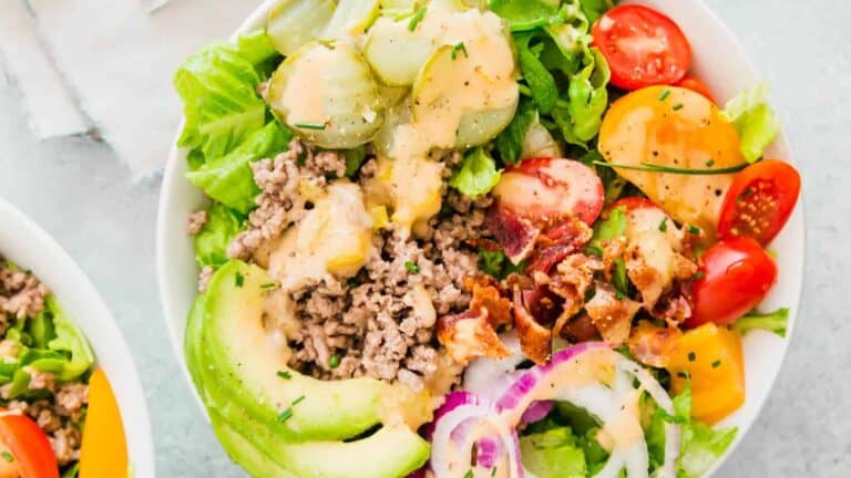
<instances>
[{"instance_id":1,"label":"thin white outer rim of the large central bowl","mask_svg":"<svg viewBox=\"0 0 851 478\"><path fill-rule=\"evenodd\" d=\"M242 22L239 28L230 35L229 41L235 41L238 35L246 33L253 29L257 29L262 27L263 20L268 14L269 10L277 3L279 3L280 0L265 0L257 9L255 9L245 21ZM671 7L676 9L693 9L695 10L695 15L700 17L711 28L717 35L719 35L720 40L725 48L728 49L730 58L735 58L735 62L737 63L737 67L739 69L738 73L739 76L745 77L749 83L756 83L761 76L758 74L756 67L753 66L752 61L746 53L745 49L742 48L741 43L739 42L738 38L734 34L734 32L727 27L727 24L718 17L718 14L710 9L703 0L625 0L622 1L621 4L627 4L627 3L638 3L638 4L645 4L648 7L653 7L658 9L662 12L665 12L666 14L670 14L669 10ZM674 17L671 14L671 17ZM185 361L185 354L183 350L183 332L185 329L185 322L186 322L186 313L188 312L188 309L177 311L177 298L176 292L173 290L172 280L171 280L171 253L170 249L166 247L166 245L170 245L172 242L172 238L170 237L170 226L174 222L174 218L170 217L170 210L172 208L172 204L175 201L174 198L174 191L177 185L177 181L185 180L180 175L181 169L181 162L185 163L185 156L186 152L177 146L176 138L180 137L181 131L183 128L183 119L181 121L181 125L177 129L177 134L175 136L175 141L172 143L172 148L168 154L168 159L165 166L165 172L163 175L163 186L161 190L161 197L160 197L160 205L158 205L158 212L157 212L157 233L156 233L156 260L157 260L157 280L160 282L160 297L161 302L163 305L163 313L164 319L166 320L166 328L168 330L168 336L172 343L173 351L175 353L175 356L180 361L181 370L183 371L184 378L189 384L193 395L195 396L196 402L201 406L205 417L206 417L206 408L204 406L203 401L201 399L201 396L198 395L197 391L195 389L195 386L192 382L192 377L189 375L189 372L186 367L186 361ZM775 141L772 148L780 149L783 153L783 160L790 164L796 164L794 162L794 154L789 145L789 139L786 136L786 127L782 125L780 129L780 134L778 135L777 139ZM194 186L193 186L194 187ZM745 419L744 423L737 424L739 432L736 435L736 438L734 439L732 444L727 448L725 454L719 457L711 468L706 471L706 477L715 476L716 471L724 466L725 463L729 459L729 457L734 454L734 451L738 448L739 444L744 440L745 436L748 434L748 432L752 428L753 424L759 418L762 409L765 408L766 404L768 403L768 398L770 393L773 391L777 378L780 374L780 371L785 366L785 362L789 355L789 347L791 345L792 337L794 335L794 329L796 323L798 321L798 315L800 311L800 303L801 298L803 294L803 271L804 271L804 253L807 246L807 229L806 229L806 219L804 219L804 208L803 208L803 191L801 193L799 197L799 204L794 209L794 212L792 217L789 219L789 222L786 225L786 228L783 231L781 231L782 236L790 236L797 250L792 251L792 258L787 260L787 264L791 266L790 269L793 269L797 271L797 276L791 279L794 281L794 283L789 284L793 289L793 293L791 295L786 295L783 306L788 306L790 309L789 319L787 323L787 333L786 337L782 340L782 347L779 361L773 364L773 368L768 372L767 378L762 383L762 387L767 391L762 399L756 404L756 408L752 411L749 411L750 416ZM203 204L203 200L199 202ZM787 274L790 274L790 272L787 272ZM778 281L779 282L779 281ZM176 324L184 324L184 328L177 328ZM757 333L755 333L757 334ZM746 357L749 356L746 354ZM747 362L747 360L746 360ZM749 384L750 385L750 384ZM750 396L750 395L748 395ZM748 405L748 398L746 398L745 404L742 405L742 408ZM736 414L737 415L738 411ZM208 419L208 418L207 418ZM719 425L726 424L728 420L722 420Z\"/></svg>"}]
</instances>

